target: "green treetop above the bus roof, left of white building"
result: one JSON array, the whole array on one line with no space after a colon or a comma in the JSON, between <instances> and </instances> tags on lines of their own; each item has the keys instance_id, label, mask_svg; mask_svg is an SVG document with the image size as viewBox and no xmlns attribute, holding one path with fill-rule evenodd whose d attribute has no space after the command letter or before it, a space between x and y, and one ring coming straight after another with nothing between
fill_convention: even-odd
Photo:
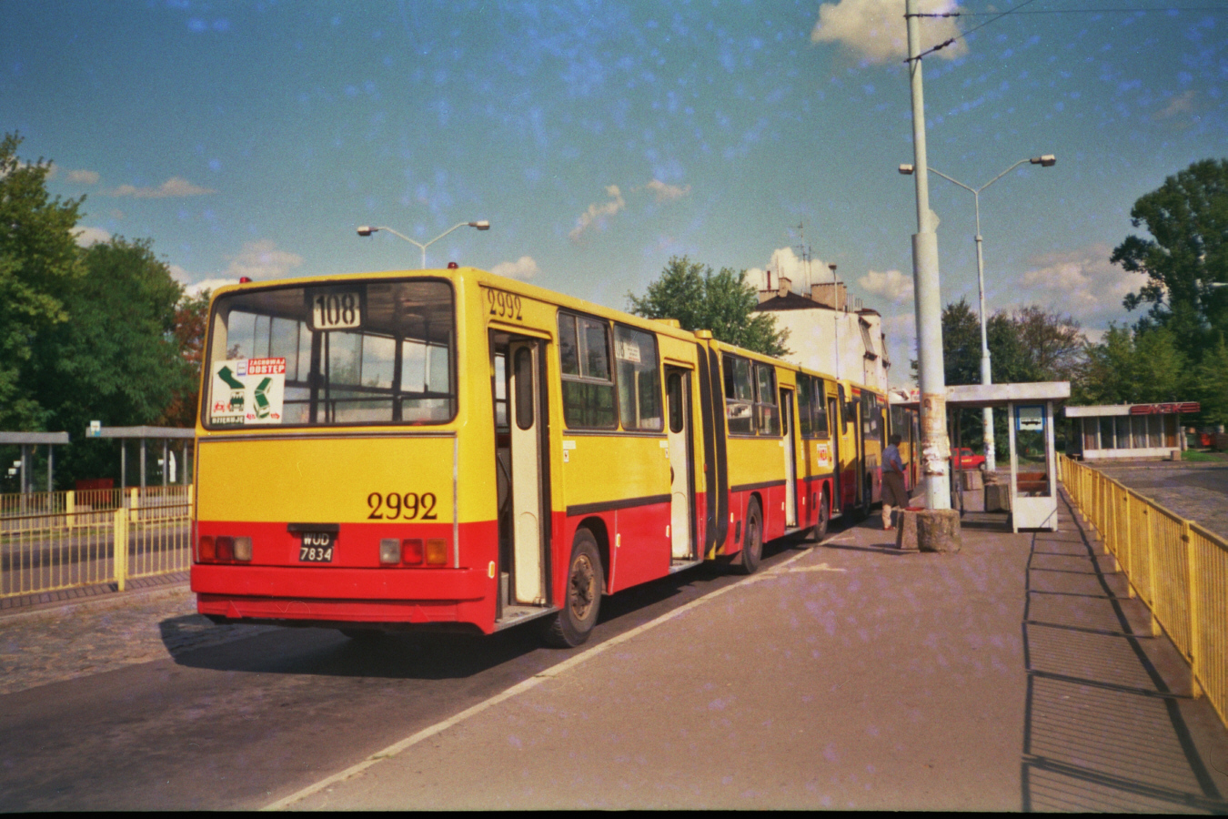
<instances>
[{"instance_id":1,"label":"green treetop above the bus roof, left of white building","mask_svg":"<svg viewBox=\"0 0 1228 819\"><path fill-rule=\"evenodd\" d=\"M787 330L770 313L755 312L759 300L747 271L670 257L643 297L628 293L630 312L645 318L674 318L686 330L712 330L713 338L766 355L785 355Z\"/></svg>"}]
</instances>

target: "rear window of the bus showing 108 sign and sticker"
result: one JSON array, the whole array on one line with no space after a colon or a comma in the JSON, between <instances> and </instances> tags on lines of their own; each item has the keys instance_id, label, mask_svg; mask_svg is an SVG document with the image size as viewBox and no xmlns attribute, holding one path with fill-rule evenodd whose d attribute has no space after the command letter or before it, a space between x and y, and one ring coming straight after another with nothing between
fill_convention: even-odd
<instances>
[{"instance_id":1,"label":"rear window of the bus showing 108 sign and sticker","mask_svg":"<svg viewBox=\"0 0 1228 819\"><path fill-rule=\"evenodd\" d=\"M205 426L441 424L456 415L443 281L355 281L221 296Z\"/></svg>"}]
</instances>

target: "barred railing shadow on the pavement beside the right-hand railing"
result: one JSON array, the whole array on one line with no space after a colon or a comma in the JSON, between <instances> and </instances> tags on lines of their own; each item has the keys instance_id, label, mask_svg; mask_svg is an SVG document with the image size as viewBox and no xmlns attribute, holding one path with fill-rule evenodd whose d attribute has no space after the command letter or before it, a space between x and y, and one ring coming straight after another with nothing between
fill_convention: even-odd
<instances>
[{"instance_id":1,"label":"barred railing shadow on the pavement beside the right-hand railing","mask_svg":"<svg viewBox=\"0 0 1228 819\"><path fill-rule=\"evenodd\" d=\"M1061 502L1062 530L1036 533L1028 559L1023 809L1228 812L1181 716L1189 696L1165 683Z\"/></svg>"}]
</instances>

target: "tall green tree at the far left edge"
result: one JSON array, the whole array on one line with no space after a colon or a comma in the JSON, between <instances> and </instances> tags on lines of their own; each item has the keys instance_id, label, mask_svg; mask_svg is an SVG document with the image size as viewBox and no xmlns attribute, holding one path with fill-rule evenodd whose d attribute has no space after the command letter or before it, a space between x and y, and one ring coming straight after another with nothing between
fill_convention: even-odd
<instances>
[{"instance_id":1,"label":"tall green tree at the far left edge","mask_svg":"<svg viewBox=\"0 0 1228 819\"><path fill-rule=\"evenodd\" d=\"M32 431L47 424L28 384L34 340L68 320L64 300L80 276L72 228L85 196L50 196L52 163L22 161L21 141L0 141L0 430Z\"/></svg>"}]
</instances>

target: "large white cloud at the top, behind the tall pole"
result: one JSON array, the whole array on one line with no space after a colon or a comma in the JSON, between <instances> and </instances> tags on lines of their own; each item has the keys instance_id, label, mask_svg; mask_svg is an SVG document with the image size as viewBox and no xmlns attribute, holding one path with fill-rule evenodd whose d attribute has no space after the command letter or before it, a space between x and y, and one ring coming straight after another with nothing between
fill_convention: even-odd
<instances>
[{"instance_id":1,"label":"large white cloud at the top, behind the tall pole","mask_svg":"<svg viewBox=\"0 0 1228 819\"><path fill-rule=\"evenodd\" d=\"M955 0L921 0L921 14L955 11ZM953 60L968 53L968 44L959 38L953 17L922 17L921 50L957 38L954 43L935 52ZM867 64L898 63L907 58L907 32L904 26L901 0L839 0L819 6L819 20L810 32L813 43L837 43Z\"/></svg>"}]
</instances>

